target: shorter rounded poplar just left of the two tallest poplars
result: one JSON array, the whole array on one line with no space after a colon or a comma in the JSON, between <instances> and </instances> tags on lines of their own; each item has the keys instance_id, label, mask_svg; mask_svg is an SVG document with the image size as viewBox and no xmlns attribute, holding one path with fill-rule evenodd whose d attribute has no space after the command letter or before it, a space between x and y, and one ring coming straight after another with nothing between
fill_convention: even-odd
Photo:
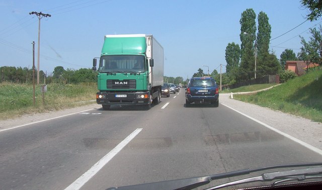
<instances>
[{"instance_id":1,"label":"shorter rounded poplar just left of the two tallest poplars","mask_svg":"<svg viewBox=\"0 0 322 190\"><path fill-rule=\"evenodd\" d=\"M240 48L238 44L234 42L228 43L225 52L225 59L226 59L226 72L229 72L232 67L239 66L239 59L240 59Z\"/></svg>"}]
</instances>

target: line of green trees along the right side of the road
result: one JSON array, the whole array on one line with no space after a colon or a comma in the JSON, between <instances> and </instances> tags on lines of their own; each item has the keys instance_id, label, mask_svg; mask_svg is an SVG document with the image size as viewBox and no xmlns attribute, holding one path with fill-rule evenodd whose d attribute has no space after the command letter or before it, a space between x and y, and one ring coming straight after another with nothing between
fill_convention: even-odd
<instances>
[{"instance_id":1,"label":"line of green trees along the right side of the road","mask_svg":"<svg viewBox=\"0 0 322 190\"><path fill-rule=\"evenodd\" d=\"M318 19L322 11L318 5L310 0L301 1L305 8L312 11L307 15L310 21ZM321 4L322 5L322 4ZM314 7L317 6L317 7ZM286 61L307 61L322 65L322 27L318 29L311 28L311 37L306 41L300 36L302 47L300 52L295 55L292 49L285 49L278 59L275 52L269 50L271 41L271 25L269 18L264 12L258 14L258 26L256 26L256 14L253 9L247 9L241 13L240 23L240 41L241 44L231 42L225 49L226 72L221 74L223 84L234 84L237 81L259 78L265 75L285 73ZM256 67L255 67L256 65ZM201 68L194 73L193 77L205 76ZM220 80L220 74L213 70L211 76L217 81ZM292 75L293 77L293 75Z\"/></svg>"}]
</instances>

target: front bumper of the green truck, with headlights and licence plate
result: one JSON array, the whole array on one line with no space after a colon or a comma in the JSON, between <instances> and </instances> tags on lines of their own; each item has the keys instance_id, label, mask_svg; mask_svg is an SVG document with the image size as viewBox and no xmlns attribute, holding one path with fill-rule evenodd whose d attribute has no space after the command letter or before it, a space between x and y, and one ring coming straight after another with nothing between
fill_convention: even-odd
<instances>
[{"instance_id":1,"label":"front bumper of the green truck, with headlights and licence plate","mask_svg":"<svg viewBox=\"0 0 322 190\"><path fill-rule=\"evenodd\" d=\"M147 105L149 92L97 92L96 103L101 105Z\"/></svg>"}]
</instances>

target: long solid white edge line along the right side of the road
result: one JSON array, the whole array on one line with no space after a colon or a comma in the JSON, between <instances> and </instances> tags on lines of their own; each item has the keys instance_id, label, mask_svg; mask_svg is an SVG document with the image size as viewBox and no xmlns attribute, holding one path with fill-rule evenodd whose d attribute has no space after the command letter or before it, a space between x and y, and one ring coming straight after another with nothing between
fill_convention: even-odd
<instances>
[{"instance_id":1,"label":"long solid white edge line along the right side of the road","mask_svg":"<svg viewBox=\"0 0 322 190\"><path fill-rule=\"evenodd\" d=\"M284 132L282 132L282 131L280 131L278 129L275 129L274 127L271 127L271 126L269 126L269 125L267 125L267 124L265 124L265 123L263 123L263 122L255 119L255 118L252 118L251 116L248 116L248 115L246 115L244 113L241 113L241 112L239 112L239 111L237 111L237 110L235 110L233 108L230 108L227 105L224 105L222 103L220 103L220 104L223 105L223 106L225 106L225 107L227 107L227 108L229 108L229 109L231 109L231 110L233 110L233 111L235 111L235 112L237 112L237 113L239 113L239 114L241 114L241 115L243 115L243 116L245 116L245 117L247 117L247 118L249 118L249 119L251 119L251 120L253 120L253 121L255 121L255 122L257 122L257 123L259 123L259 124L261 124L261 125L264 125L265 127L269 128L270 130L273 130L276 133L279 133L279 134L283 135L284 137L289 138L292 141L295 141L295 142L301 144L302 146L304 146L304 147L306 147L306 148L308 148L308 149L310 149L310 150L312 150L312 151L314 151L314 152L322 155L322 150L320 150L320 149L318 149L318 148L316 148L316 147L314 147L314 146L312 146L310 144L307 144L306 142L303 142L303 141L301 141L301 140L299 140L299 139L297 139L297 138L295 138L295 137L293 137L293 136L291 136L289 134L286 134L286 133L284 133Z\"/></svg>"}]
</instances>

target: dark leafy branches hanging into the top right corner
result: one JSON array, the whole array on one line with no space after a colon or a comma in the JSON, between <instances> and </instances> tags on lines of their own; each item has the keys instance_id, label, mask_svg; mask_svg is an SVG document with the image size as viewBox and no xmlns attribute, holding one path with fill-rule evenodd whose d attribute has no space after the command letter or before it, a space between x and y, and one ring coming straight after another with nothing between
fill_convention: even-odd
<instances>
[{"instance_id":1,"label":"dark leafy branches hanging into the top right corner","mask_svg":"<svg viewBox=\"0 0 322 190\"><path fill-rule=\"evenodd\" d=\"M322 0L302 0L303 7L310 10L311 13L306 15L310 21L317 20L322 15Z\"/></svg>"}]
</instances>

